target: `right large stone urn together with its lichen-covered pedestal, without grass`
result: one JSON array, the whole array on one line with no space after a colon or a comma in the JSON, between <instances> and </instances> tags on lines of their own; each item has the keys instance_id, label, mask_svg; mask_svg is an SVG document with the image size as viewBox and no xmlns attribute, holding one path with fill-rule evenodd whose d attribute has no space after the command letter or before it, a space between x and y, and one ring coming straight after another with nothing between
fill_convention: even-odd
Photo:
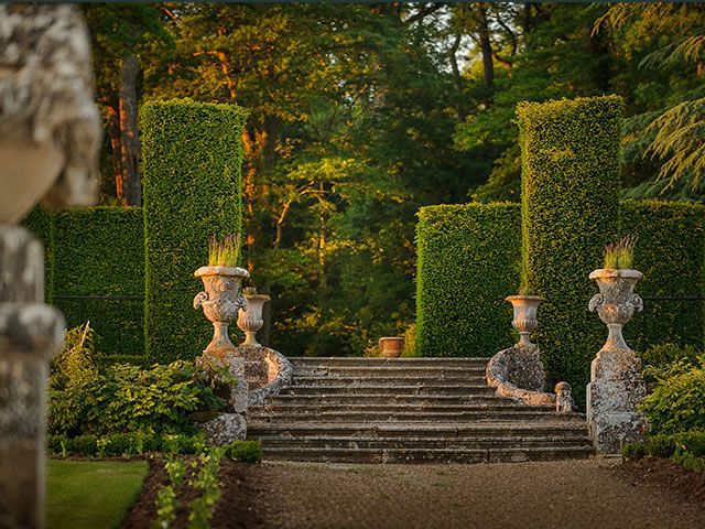
<instances>
[{"instance_id":1,"label":"right large stone urn together with its lichen-covered pedestal, without grass","mask_svg":"<svg viewBox=\"0 0 705 529\"><path fill-rule=\"evenodd\" d=\"M595 449L616 454L625 442L641 439L644 419L637 406L646 396L641 360L629 348L622 326L643 309L634 285L643 274L631 269L600 269L589 274L599 293L589 302L607 325L608 336L590 365L587 421Z\"/></svg>"}]
</instances>

